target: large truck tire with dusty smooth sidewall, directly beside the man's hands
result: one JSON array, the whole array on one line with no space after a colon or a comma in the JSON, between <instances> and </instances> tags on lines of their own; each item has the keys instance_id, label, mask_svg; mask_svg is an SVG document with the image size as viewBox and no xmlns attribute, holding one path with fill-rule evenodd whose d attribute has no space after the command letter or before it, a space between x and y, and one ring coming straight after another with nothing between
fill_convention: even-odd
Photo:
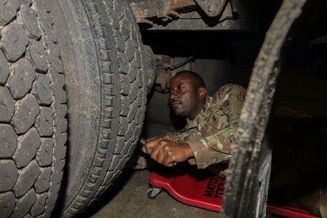
<instances>
[{"instance_id":1,"label":"large truck tire with dusty smooth sidewall, directly beside the man's hands","mask_svg":"<svg viewBox=\"0 0 327 218\"><path fill-rule=\"evenodd\" d=\"M141 134L143 44L127 1L47 3L63 53L69 120L56 215L73 217L113 184Z\"/></svg>"}]
</instances>

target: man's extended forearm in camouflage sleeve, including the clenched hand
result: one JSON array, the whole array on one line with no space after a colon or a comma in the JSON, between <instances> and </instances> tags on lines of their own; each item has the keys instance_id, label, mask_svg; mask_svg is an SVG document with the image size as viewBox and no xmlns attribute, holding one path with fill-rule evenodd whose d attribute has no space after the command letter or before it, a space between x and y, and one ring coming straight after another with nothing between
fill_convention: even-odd
<instances>
[{"instance_id":1,"label":"man's extended forearm in camouflage sleeve, including the clenched hand","mask_svg":"<svg viewBox=\"0 0 327 218\"><path fill-rule=\"evenodd\" d=\"M237 131L238 123L223 128L207 137L200 137L186 143L183 141L188 132L178 134L178 137L157 138L145 143L145 150L159 164L173 166L172 162L184 162L192 157L196 161L191 164L198 164L198 168L206 168L211 164L225 162L230 159L230 150L234 141L234 132ZM165 135L166 136L166 135ZM170 139L175 139L172 141Z\"/></svg>"}]
</instances>

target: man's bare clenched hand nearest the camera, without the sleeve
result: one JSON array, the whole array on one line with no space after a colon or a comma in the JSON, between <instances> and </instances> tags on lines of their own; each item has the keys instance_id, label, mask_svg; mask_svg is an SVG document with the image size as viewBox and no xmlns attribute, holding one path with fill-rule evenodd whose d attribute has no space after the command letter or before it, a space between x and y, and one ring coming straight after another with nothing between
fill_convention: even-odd
<instances>
[{"instance_id":1,"label":"man's bare clenched hand nearest the camera, without the sleeve","mask_svg":"<svg viewBox=\"0 0 327 218\"><path fill-rule=\"evenodd\" d=\"M194 157L187 143L176 143L163 138L152 139L145 143L145 150L159 164L173 166L172 162L184 162Z\"/></svg>"}]
</instances>

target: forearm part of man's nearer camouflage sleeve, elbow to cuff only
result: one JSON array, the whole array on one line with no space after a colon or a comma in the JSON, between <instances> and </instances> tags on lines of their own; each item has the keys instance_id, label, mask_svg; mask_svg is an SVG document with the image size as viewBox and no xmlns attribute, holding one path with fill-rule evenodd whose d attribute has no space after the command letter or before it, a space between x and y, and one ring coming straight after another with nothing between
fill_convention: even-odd
<instances>
[{"instance_id":1,"label":"forearm part of man's nearer camouflage sleeve, elbow to cuff only","mask_svg":"<svg viewBox=\"0 0 327 218\"><path fill-rule=\"evenodd\" d=\"M238 123L234 123L207 137L186 141L193 150L198 169L230 160L231 146L237 127ZM190 163L192 164L192 161Z\"/></svg>"}]
</instances>

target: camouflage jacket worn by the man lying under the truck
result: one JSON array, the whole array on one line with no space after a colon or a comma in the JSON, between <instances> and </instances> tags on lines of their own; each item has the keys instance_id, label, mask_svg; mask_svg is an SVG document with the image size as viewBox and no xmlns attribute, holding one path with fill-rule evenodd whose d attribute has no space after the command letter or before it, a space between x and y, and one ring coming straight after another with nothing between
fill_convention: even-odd
<instances>
[{"instance_id":1,"label":"camouflage jacket worn by the man lying under the truck","mask_svg":"<svg viewBox=\"0 0 327 218\"><path fill-rule=\"evenodd\" d=\"M168 133L163 138L177 143L188 143L194 158L190 164L204 169L211 164L228 162L246 89L226 84L214 95L207 95L205 107L193 120L187 119L183 132Z\"/></svg>"}]
</instances>

